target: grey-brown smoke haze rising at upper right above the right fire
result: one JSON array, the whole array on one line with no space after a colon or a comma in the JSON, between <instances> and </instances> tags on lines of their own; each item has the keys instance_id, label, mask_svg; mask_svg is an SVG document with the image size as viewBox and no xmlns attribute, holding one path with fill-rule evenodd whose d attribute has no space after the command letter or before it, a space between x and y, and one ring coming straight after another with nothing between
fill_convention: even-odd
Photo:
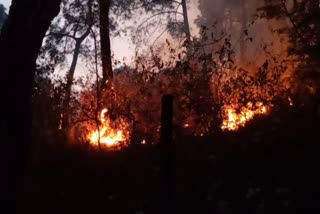
<instances>
[{"instance_id":1,"label":"grey-brown smoke haze rising at upper right above the right fire","mask_svg":"<svg viewBox=\"0 0 320 214\"><path fill-rule=\"evenodd\" d=\"M259 18L257 9L263 6L264 1L257 0L199 0L201 15L195 22L216 34L231 35L237 63L259 66L271 55L283 56L288 47L277 33L287 22Z\"/></svg>"}]
</instances>

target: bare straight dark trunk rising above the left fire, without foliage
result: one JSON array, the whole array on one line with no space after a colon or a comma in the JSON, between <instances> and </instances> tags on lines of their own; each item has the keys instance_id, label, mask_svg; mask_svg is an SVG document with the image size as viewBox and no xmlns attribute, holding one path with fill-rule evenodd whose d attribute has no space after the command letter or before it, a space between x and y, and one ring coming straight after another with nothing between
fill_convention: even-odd
<instances>
[{"instance_id":1,"label":"bare straight dark trunk rising above the left fire, without foliage","mask_svg":"<svg viewBox=\"0 0 320 214\"><path fill-rule=\"evenodd\" d=\"M102 61L102 85L105 89L111 86L113 81L111 45L110 45L110 23L109 10L110 0L99 0L100 10L100 42L101 42L101 61Z\"/></svg>"}]
</instances>

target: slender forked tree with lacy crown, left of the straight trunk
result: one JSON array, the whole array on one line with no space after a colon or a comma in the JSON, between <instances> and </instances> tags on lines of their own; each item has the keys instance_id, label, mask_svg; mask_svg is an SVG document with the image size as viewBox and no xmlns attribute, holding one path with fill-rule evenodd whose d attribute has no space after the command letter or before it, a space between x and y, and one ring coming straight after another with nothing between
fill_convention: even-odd
<instances>
[{"instance_id":1,"label":"slender forked tree with lacy crown, left of the straight trunk","mask_svg":"<svg viewBox=\"0 0 320 214\"><path fill-rule=\"evenodd\" d=\"M49 64L64 69L67 55L71 55L71 64L66 74L65 93L63 101L62 129L68 135L72 125L72 86L79 57L92 59L92 33L98 27L98 7L94 0L65 0L61 13L50 26L45 44L42 46L38 64L45 72ZM53 72L54 70L52 70Z\"/></svg>"}]
</instances>

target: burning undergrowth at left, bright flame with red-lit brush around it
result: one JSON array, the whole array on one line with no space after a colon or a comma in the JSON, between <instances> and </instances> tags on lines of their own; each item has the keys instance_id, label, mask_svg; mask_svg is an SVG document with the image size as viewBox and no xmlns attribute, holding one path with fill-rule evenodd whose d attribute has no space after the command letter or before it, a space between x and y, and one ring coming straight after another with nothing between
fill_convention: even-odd
<instances>
[{"instance_id":1,"label":"burning undergrowth at left, bright flame with red-lit brush around it","mask_svg":"<svg viewBox=\"0 0 320 214\"><path fill-rule=\"evenodd\" d=\"M119 98L115 99L114 92L109 92L101 95L97 102L94 88L83 91L69 139L86 142L94 149L120 150L127 147L132 135L132 120L124 110L127 106Z\"/></svg>"}]
</instances>

